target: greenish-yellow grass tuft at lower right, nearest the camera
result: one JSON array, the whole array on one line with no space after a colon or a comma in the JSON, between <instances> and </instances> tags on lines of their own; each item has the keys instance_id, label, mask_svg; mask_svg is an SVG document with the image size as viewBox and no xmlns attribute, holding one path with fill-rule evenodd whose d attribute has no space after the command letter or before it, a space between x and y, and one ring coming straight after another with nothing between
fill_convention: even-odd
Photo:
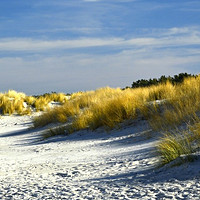
<instances>
[{"instance_id":1,"label":"greenish-yellow grass tuft at lower right, nearest the camera","mask_svg":"<svg viewBox=\"0 0 200 200\"><path fill-rule=\"evenodd\" d=\"M158 152L161 156L161 164L166 164L174 159L183 156L188 156L192 161L193 157L190 155L200 148L200 118L196 116L193 123L187 125L187 130L172 131L161 138L158 144ZM185 160L182 159L182 162ZM181 164L181 163L180 163Z\"/></svg>"}]
</instances>

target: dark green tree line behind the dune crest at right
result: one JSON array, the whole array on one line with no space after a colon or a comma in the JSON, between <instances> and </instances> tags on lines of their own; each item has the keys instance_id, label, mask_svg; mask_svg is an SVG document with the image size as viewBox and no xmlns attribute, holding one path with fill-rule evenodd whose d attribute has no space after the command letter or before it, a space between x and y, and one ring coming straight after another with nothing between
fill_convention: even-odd
<instances>
[{"instance_id":1,"label":"dark green tree line behind the dune crest at right","mask_svg":"<svg viewBox=\"0 0 200 200\"><path fill-rule=\"evenodd\" d=\"M158 85L160 83L166 83L167 81L169 81L172 84L178 84L178 83L182 83L183 80L185 78L188 77L197 77L197 75L192 75L192 74L188 74L188 73L180 73L178 75L174 75L173 77L171 76L161 76L160 78L154 78L154 79L140 79L136 82L133 82L131 85L131 88L138 88L138 87L148 87L151 85ZM126 87L126 88L130 88L130 87Z\"/></svg>"}]
</instances>

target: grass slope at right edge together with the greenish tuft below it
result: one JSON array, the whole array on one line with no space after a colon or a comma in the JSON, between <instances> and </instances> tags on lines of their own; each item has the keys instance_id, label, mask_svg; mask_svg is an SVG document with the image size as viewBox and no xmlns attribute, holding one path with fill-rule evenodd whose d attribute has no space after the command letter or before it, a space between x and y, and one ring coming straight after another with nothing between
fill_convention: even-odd
<instances>
[{"instance_id":1,"label":"grass slope at right edge together with the greenish tuft below it","mask_svg":"<svg viewBox=\"0 0 200 200\"><path fill-rule=\"evenodd\" d=\"M190 155L200 147L200 76L174 86L174 95L149 119L154 130L164 131L158 145L161 164L181 155ZM177 127L185 130L177 131ZM167 132L167 133L166 133Z\"/></svg>"}]
</instances>

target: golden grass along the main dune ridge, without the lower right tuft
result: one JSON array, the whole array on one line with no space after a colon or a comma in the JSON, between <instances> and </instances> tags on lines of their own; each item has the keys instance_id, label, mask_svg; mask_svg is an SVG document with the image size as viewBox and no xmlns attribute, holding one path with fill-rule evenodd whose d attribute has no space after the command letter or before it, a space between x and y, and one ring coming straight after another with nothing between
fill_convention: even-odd
<instances>
[{"instance_id":1,"label":"golden grass along the main dune ridge, without the lower right tuft","mask_svg":"<svg viewBox=\"0 0 200 200\"><path fill-rule=\"evenodd\" d=\"M158 104L155 100L163 102ZM101 126L112 129L138 115L148 119L153 129L167 129L195 117L200 109L200 77L188 78L180 85L167 82L147 88L121 90L106 87L78 92L72 94L69 102L69 109L75 107L80 111L72 115L74 130L94 130ZM65 107L62 109L65 110ZM56 112L60 111L55 110L54 114Z\"/></svg>"}]
</instances>

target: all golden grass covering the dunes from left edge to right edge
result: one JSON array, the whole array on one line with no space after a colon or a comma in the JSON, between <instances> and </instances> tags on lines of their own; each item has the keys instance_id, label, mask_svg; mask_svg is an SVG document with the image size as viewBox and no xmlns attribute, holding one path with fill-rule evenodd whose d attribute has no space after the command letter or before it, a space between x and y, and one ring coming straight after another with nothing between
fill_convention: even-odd
<instances>
[{"instance_id":1,"label":"all golden grass covering the dunes from left edge to right edge","mask_svg":"<svg viewBox=\"0 0 200 200\"><path fill-rule=\"evenodd\" d=\"M51 101L61 104L50 109ZM34 127L58 123L43 134L44 138L81 129L110 130L125 120L142 117L153 130L163 133L157 146L162 164L190 155L200 147L200 75L162 76L149 87L106 87L74 93L68 100L62 93L37 97L15 91L0 94L3 114L23 114L30 108L45 111L34 119Z\"/></svg>"}]
</instances>

